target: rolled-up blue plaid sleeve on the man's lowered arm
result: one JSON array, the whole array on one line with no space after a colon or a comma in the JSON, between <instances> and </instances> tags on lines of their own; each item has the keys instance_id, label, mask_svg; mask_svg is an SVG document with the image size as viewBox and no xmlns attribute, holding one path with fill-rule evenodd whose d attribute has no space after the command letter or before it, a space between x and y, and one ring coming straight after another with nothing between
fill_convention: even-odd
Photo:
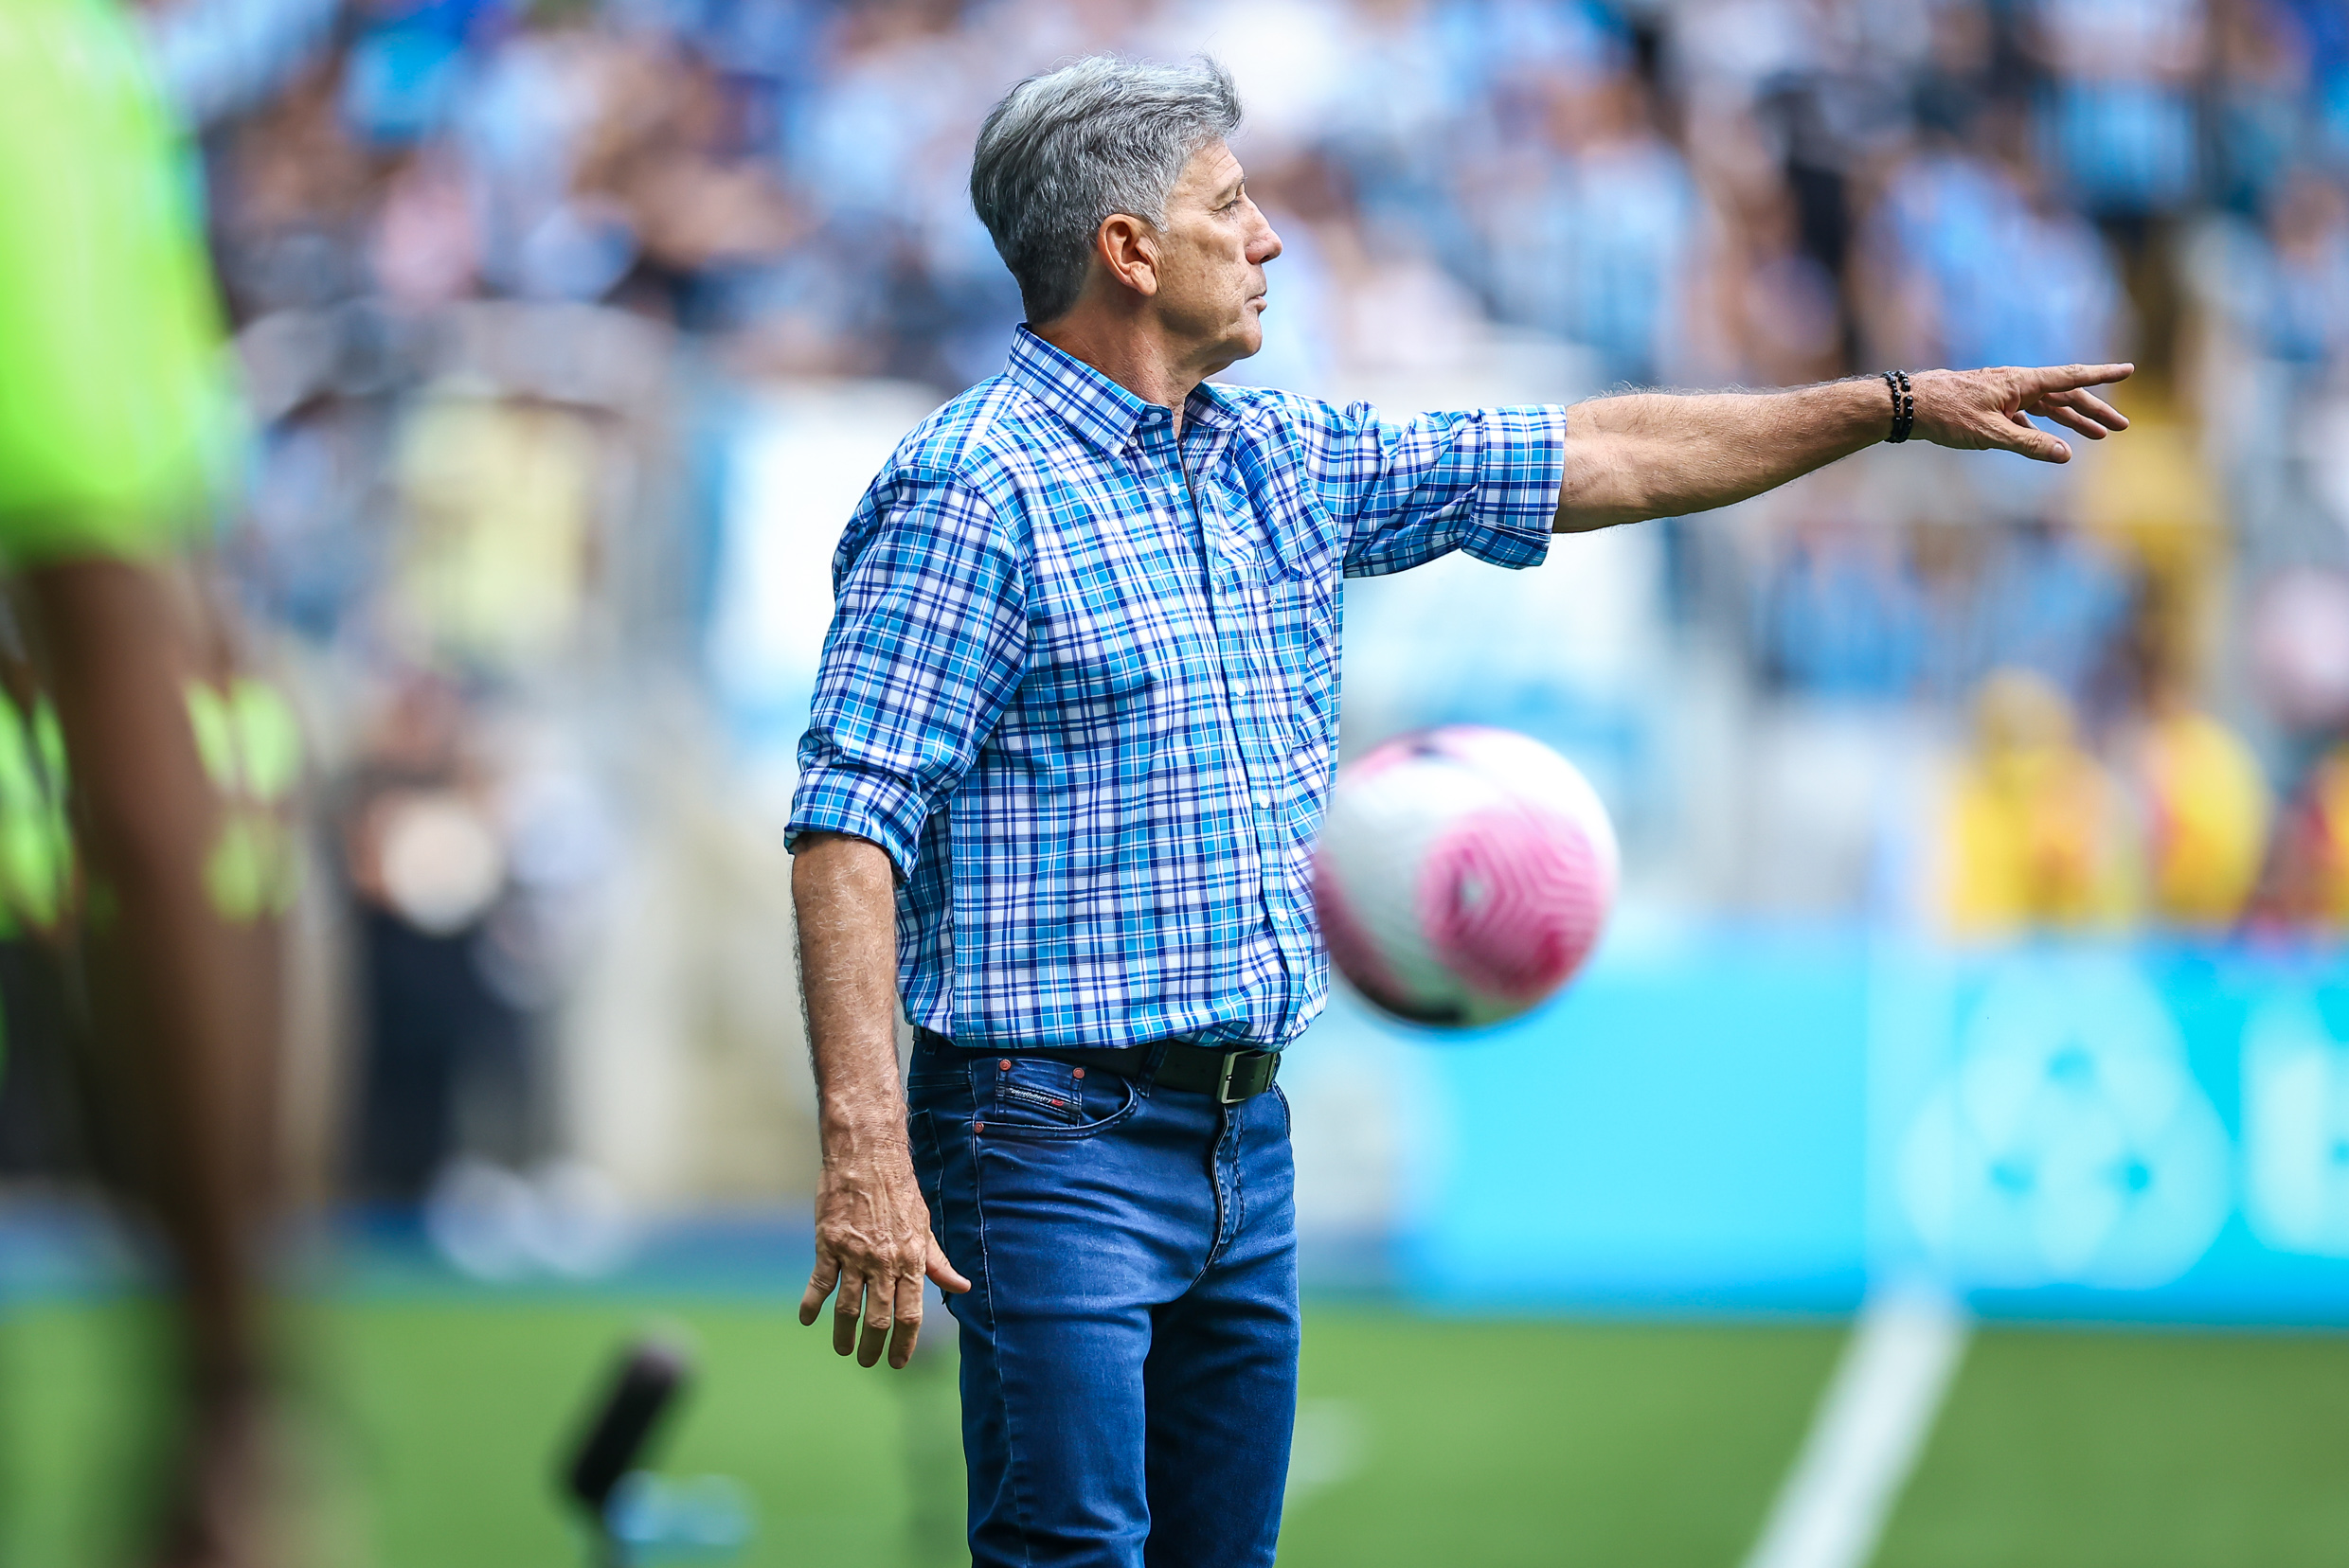
<instances>
[{"instance_id":1,"label":"rolled-up blue plaid sleeve on the man's lowered arm","mask_svg":"<svg viewBox=\"0 0 2349 1568\"><path fill-rule=\"evenodd\" d=\"M1024 568L965 481L895 472L850 519L834 592L785 833L869 838L911 878L1027 671Z\"/></svg>"}]
</instances>

